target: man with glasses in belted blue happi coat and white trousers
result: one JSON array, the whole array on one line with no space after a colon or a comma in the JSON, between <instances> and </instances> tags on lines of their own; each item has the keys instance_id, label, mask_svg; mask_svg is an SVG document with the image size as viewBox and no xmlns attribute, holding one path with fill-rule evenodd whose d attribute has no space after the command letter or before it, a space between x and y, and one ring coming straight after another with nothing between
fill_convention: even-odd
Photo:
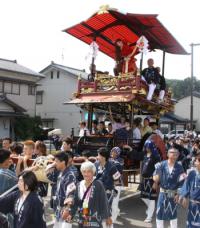
<instances>
[{"instance_id":1,"label":"man with glasses in belted blue happi coat and white trousers","mask_svg":"<svg viewBox=\"0 0 200 228\"><path fill-rule=\"evenodd\" d=\"M154 187L160 184L160 193L157 202L157 228L164 228L164 221L170 221L171 228L177 228L177 201L178 189L182 186L186 174L181 164L177 162L178 151L175 148L168 150L168 160L157 163L153 180Z\"/></svg>"}]
</instances>

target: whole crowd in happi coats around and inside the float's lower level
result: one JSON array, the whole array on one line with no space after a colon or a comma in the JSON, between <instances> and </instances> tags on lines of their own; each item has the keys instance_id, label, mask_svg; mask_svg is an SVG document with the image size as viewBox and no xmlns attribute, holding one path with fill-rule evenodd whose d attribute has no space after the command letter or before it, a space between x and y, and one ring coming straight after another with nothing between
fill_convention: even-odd
<instances>
[{"instance_id":1,"label":"whole crowd in happi coats around and inside the float's lower level","mask_svg":"<svg viewBox=\"0 0 200 228\"><path fill-rule=\"evenodd\" d=\"M103 121L93 121L91 132L81 122L83 136L114 134L126 136L132 144L142 142L141 199L147 210L146 223L151 223L156 211L157 228L164 227L170 220L171 228L177 225L177 205L189 206L187 227L200 227L200 140L192 134L183 137L164 138L156 122L136 118L133 128L125 118L111 121L112 129ZM82 125L82 129L81 129ZM111 133L112 132L112 133ZM126 134L124 133L126 132ZM154 135L165 142L167 159L163 159ZM145 139L145 140L143 140ZM50 206L55 214L54 228L72 227L113 227L120 213L118 206L121 186L123 186L124 148L132 151L131 145L114 147L110 151L101 147L97 157L91 158L90 151L82 154L74 151L70 137L64 138L60 151L54 155L45 168L49 182L37 179L39 169L33 163L38 157L47 155L46 146L41 141L27 140L12 142L5 138L0 149L0 224L1 227L46 227L42 197L47 196L51 186ZM139 148L139 147L138 147ZM82 164L74 165L77 156ZM91 162L92 161L92 162ZM12 188L13 191L8 191ZM18 190L16 190L16 188ZM8 191L8 192L7 192ZM156 205L157 202L157 205ZM5 217L6 216L6 217ZM28 224L28 225L27 225Z\"/></svg>"}]
</instances>

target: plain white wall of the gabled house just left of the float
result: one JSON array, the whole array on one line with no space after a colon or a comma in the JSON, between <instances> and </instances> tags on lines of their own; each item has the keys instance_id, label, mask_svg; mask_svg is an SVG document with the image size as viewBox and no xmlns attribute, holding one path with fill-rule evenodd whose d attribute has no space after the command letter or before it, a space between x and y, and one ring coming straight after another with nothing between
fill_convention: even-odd
<instances>
[{"instance_id":1,"label":"plain white wall of the gabled house just left of the float","mask_svg":"<svg viewBox=\"0 0 200 228\"><path fill-rule=\"evenodd\" d=\"M71 128L76 128L80 121L80 108L75 105L64 105L73 97L77 90L77 77L60 71L60 77L57 79L57 70L54 71L54 78L51 79L51 71L44 73L46 78L41 79L37 90L43 90L43 103L36 105L36 113L41 118L55 118L54 127L61 128L65 135L71 133Z\"/></svg>"}]
</instances>

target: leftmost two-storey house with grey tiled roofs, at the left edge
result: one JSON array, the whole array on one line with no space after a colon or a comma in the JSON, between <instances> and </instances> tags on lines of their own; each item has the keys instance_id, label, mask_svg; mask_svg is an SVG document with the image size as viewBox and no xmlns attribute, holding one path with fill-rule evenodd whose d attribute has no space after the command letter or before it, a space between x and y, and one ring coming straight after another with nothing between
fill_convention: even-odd
<instances>
[{"instance_id":1,"label":"leftmost two-storey house with grey tiled roofs, at the left edge","mask_svg":"<svg viewBox=\"0 0 200 228\"><path fill-rule=\"evenodd\" d=\"M42 77L16 60L0 59L0 138L14 138L16 117L35 116L35 91Z\"/></svg>"}]
</instances>

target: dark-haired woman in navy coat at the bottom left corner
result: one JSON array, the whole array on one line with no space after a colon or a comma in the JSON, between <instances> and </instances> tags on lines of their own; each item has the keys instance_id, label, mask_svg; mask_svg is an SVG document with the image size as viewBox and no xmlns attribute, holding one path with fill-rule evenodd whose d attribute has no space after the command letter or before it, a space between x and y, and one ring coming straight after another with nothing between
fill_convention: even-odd
<instances>
[{"instance_id":1,"label":"dark-haired woman in navy coat at the bottom left corner","mask_svg":"<svg viewBox=\"0 0 200 228\"><path fill-rule=\"evenodd\" d=\"M39 199L37 179L33 172L19 175L19 191L0 198L0 212L14 214L15 228L46 228L44 205Z\"/></svg>"}]
</instances>

